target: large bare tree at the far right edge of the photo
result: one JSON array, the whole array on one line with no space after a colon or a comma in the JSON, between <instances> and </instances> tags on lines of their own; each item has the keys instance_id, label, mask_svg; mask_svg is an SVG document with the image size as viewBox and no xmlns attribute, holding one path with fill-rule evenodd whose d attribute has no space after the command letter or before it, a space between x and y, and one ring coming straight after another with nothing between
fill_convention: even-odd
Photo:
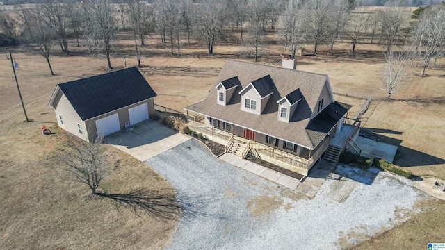
<instances>
[{"instance_id":1,"label":"large bare tree at the far right edge of the photo","mask_svg":"<svg viewBox=\"0 0 445 250\"><path fill-rule=\"evenodd\" d=\"M426 8L416 23L412 38L422 60L423 76L431 58L445 51L445 7Z\"/></svg>"}]
</instances>

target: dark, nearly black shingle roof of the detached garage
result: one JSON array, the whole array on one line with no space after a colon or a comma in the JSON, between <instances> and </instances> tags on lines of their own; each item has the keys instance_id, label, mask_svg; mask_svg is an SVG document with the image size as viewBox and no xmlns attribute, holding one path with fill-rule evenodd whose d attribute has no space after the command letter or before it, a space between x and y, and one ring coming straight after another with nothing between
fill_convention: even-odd
<instances>
[{"instance_id":1,"label":"dark, nearly black shingle roof of the detached garage","mask_svg":"<svg viewBox=\"0 0 445 250\"><path fill-rule=\"evenodd\" d=\"M136 67L58 84L83 121L156 97Z\"/></svg>"}]
</instances>

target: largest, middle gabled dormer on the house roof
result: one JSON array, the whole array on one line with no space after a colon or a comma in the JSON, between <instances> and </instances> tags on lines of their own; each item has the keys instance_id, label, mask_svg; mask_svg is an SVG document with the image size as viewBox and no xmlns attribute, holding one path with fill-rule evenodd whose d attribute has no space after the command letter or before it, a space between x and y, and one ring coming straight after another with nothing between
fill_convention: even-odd
<instances>
[{"instance_id":1,"label":"largest, middle gabled dormer on the house roof","mask_svg":"<svg viewBox=\"0 0 445 250\"><path fill-rule=\"evenodd\" d=\"M272 78L268 75L252 81L239 94L241 95L241 110L261 115L273 94Z\"/></svg>"}]
</instances>

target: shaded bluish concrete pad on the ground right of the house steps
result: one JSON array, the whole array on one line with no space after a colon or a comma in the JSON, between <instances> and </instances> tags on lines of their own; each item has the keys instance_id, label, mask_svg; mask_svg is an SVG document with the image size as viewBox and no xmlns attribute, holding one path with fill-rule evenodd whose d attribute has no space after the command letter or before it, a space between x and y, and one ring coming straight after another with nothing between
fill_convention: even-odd
<instances>
[{"instance_id":1,"label":"shaded bluish concrete pad on the ground right of the house steps","mask_svg":"<svg viewBox=\"0 0 445 250\"><path fill-rule=\"evenodd\" d=\"M396 156L398 149L397 146L387 144L385 142L376 142L375 140L364 138L362 136L359 136L355 142L362 149L362 156L366 156L368 158L382 158L387 160L389 163L393 162L394 156Z\"/></svg>"}]
</instances>

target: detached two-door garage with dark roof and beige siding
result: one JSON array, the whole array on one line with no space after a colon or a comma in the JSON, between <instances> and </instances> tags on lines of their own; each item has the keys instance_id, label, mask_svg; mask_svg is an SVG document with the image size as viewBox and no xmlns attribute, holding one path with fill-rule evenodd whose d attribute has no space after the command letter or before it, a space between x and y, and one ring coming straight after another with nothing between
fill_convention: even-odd
<instances>
[{"instance_id":1,"label":"detached two-door garage with dark roof and beige siding","mask_svg":"<svg viewBox=\"0 0 445 250\"><path fill-rule=\"evenodd\" d=\"M60 128L93 140L154 115L156 93L136 67L56 86L53 106Z\"/></svg>"}]
</instances>

